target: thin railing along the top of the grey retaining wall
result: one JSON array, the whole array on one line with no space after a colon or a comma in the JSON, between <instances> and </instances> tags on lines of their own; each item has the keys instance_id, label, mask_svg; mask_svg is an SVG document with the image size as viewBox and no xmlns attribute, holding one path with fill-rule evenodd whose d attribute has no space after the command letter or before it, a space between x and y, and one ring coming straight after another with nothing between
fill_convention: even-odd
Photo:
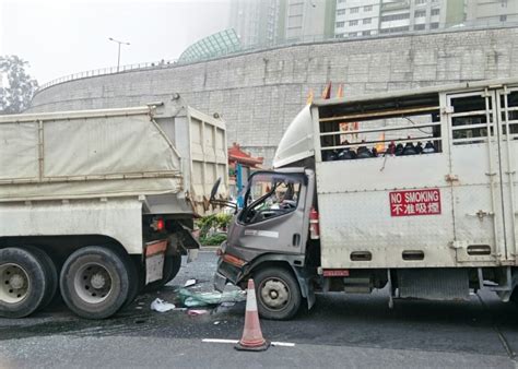
<instances>
[{"instance_id":1,"label":"thin railing along the top of the grey retaining wall","mask_svg":"<svg viewBox=\"0 0 518 369\"><path fill-rule=\"evenodd\" d=\"M177 59L173 60L160 60L160 61L152 61L152 62L142 62L136 64L127 64L117 67L108 67L102 69L95 69L84 72L79 72L74 74L69 74L52 81L49 81L40 86L35 94L38 94L45 88L50 86L70 82L80 79L86 79L92 76L99 76L99 75L109 75L109 74L117 74L117 73L127 73L127 72L134 72L141 70L153 70L153 69L161 69L161 68L175 68L180 66L193 64L202 61L209 61L214 59L227 58L233 56L238 56L243 53L249 52L258 52L258 51L266 51L269 49L276 49L276 48L284 48L291 46L298 46L304 44L316 44L316 43L326 43L326 41L348 41L348 40L361 40L361 39L372 39L372 38L384 38L384 37L391 37L391 36L411 36L411 35L423 35L423 34L437 34L437 33L454 33L454 32L466 32L466 31L476 31L476 29L490 29L490 28L502 28L502 27L518 27L518 23L515 22L476 22L476 23L463 23L463 24L456 24L452 26L437 28L437 29L425 29L425 31L404 31L404 32L395 32L395 33L379 33L375 35L366 35L366 36L357 36L357 37L344 37L343 35L305 35L299 36L292 39L285 39L283 41L276 43L268 43L268 44L257 44L246 48L242 48L240 50L235 50L235 48L231 48L228 50L221 50L217 56L207 57L205 59L200 59L196 61L185 61L180 62Z\"/></svg>"}]
</instances>

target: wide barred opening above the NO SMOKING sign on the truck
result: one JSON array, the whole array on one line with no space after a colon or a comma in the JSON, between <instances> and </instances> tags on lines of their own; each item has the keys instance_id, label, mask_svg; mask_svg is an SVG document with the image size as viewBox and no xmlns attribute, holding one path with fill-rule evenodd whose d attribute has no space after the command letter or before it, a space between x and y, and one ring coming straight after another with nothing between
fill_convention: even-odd
<instances>
[{"instance_id":1,"label":"wide barred opening above the NO SMOKING sign on the truck","mask_svg":"<svg viewBox=\"0 0 518 369\"><path fill-rule=\"evenodd\" d=\"M437 94L362 104L319 109L322 162L442 152Z\"/></svg>"}]
</instances>

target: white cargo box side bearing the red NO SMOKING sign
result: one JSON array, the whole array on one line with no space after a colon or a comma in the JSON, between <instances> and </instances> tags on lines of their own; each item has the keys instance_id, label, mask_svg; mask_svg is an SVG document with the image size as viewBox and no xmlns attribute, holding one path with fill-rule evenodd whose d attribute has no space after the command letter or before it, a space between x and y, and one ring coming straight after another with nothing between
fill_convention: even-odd
<instances>
[{"instance_id":1,"label":"white cargo box side bearing the red NO SMOKING sign","mask_svg":"<svg viewBox=\"0 0 518 369\"><path fill-rule=\"evenodd\" d=\"M513 83L317 102L322 267L515 264Z\"/></svg>"}]
</instances>

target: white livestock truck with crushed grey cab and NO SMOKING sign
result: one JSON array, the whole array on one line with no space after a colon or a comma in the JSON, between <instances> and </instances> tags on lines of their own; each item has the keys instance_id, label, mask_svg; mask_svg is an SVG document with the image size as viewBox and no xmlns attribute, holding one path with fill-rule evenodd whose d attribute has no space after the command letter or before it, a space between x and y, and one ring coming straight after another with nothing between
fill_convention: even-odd
<instances>
[{"instance_id":1,"label":"white livestock truck with crushed grey cab and NO SMOKING sign","mask_svg":"<svg viewBox=\"0 0 518 369\"><path fill-rule=\"evenodd\" d=\"M256 282L263 318L315 291L516 300L518 80L304 108L250 176L215 286Z\"/></svg>"}]
</instances>

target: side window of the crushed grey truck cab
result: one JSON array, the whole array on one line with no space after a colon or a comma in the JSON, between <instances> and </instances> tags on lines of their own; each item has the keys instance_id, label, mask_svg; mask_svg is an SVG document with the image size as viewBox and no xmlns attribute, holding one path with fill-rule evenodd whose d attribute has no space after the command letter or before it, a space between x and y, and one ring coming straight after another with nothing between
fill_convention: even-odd
<instances>
[{"instance_id":1,"label":"side window of the crushed grey truck cab","mask_svg":"<svg viewBox=\"0 0 518 369\"><path fill-rule=\"evenodd\" d=\"M245 193L246 207L238 221L251 224L293 212L298 205L301 186L299 176L273 172L254 175Z\"/></svg>"}]
</instances>

